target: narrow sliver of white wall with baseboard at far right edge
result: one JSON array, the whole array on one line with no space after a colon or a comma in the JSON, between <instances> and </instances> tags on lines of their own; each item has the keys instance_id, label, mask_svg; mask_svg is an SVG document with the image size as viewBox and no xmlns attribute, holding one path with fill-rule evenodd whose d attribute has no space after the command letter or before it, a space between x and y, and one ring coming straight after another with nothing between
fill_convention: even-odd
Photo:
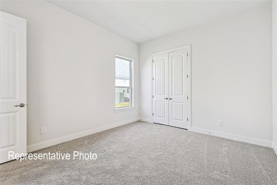
<instances>
[{"instance_id":1,"label":"narrow sliver of white wall with baseboard at far right edge","mask_svg":"<svg viewBox=\"0 0 277 185\"><path fill-rule=\"evenodd\" d=\"M277 1L272 1L272 122L273 144L272 148L277 154Z\"/></svg>"}]
</instances>

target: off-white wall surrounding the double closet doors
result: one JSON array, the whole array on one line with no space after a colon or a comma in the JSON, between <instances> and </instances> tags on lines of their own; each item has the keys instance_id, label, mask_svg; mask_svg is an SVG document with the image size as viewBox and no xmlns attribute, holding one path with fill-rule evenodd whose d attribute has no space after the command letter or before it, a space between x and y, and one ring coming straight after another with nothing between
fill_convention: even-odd
<instances>
[{"instance_id":1,"label":"off-white wall surrounding the double closet doors","mask_svg":"<svg viewBox=\"0 0 277 185\"><path fill-rule=\"evenodd\" d=\"M192 44L192 127L272 141L271 17L270 3L140 44L140 117L152 113L150 54Z\"/></svg>"}]
</instances>

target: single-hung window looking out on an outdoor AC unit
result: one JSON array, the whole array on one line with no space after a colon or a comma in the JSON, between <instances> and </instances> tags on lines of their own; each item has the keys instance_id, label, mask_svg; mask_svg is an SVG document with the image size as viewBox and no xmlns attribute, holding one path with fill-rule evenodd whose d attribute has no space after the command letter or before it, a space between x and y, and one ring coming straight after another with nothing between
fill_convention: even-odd
<instances>
[{"instance_id":1,"label":"single-hung window looking out on an outdoor AC unit","mask_svg":"<svg viewBox=\"0 0 277 185\"><path fill-rule=\"evenodd\" d=\"M132 62L133 60L121 56L115 57L116 110L129 110L128 108L133 108Z\"/></svg>"}]
</instances>

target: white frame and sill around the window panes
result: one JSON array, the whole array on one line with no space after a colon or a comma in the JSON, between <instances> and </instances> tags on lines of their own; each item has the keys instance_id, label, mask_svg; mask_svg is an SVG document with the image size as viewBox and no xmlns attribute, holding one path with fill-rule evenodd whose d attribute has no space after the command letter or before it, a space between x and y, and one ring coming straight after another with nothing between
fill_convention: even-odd
<instances>
[{"instance_id":1,"label":"white frame and sill around the window panes","mask_svg":"<svg viewBox=\"0 0 277 185\"><path fill-rule=\"evenodd\" d=\"M120 58L120 59L124 59L124 60L129 60L131 62L131 69L130 69L130 86L129 87L123 87L123 86L115 86L114 90L116 88L130 88L130 105L129 106L125 106L125 107L115 107L115 99L114 99L114 111L117 112L122 112L122 111L127 111L127 110L133 110L135 108L134 106L134 72L133 72L133 68L134 68L134 60L126 58L124 56L120 56L120 55L115 55L115 58Z\"/></svg>"}]
</instances>

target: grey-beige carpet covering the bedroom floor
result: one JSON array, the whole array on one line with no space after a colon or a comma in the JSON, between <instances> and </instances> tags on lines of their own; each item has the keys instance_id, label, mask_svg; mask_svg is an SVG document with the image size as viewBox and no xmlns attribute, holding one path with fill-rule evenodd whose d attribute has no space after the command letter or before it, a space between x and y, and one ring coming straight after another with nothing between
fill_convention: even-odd
<instances>
[{"instance_id":1,"label":"grey-beige carpet covering the bedroom floor","mask_svg":"<svg viewBox=\"0 0 277 185\"><path fill-rule=\"evenodd\" d=\"M93 152L96 160L14 160L1 184L277 184L271 148L137 121L35 153Z\"/></svg>"}]
</instances>

